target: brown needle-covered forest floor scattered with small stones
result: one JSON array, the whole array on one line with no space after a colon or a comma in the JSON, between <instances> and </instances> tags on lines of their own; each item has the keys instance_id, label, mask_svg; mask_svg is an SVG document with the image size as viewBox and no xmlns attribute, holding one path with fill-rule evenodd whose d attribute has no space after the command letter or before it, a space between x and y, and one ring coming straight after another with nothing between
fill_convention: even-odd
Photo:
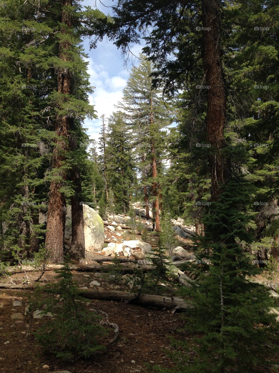
<instances>
[{"instance_id":1,"label":"brown needle-covered forest floor scattered with small stones","mask_svg":"<svg viewBox=\"0 0 279 373\"><path fill-rule=\"evenodd\" d=\"M124 232L123 232L124 233ZM121 242L121 237L106 229L106 241ZM125 239L142 239L140 235L134 235L129 231L125 232ZM151 245L156 245L158 236L155 232L150 232L148 240ZM190 239L180 238L177 244L187 251L191 248ZM92 262L88 260L87 264ZM1 278L2 283L22 284L26 281L29 285L35 285L35 280L40 272L16 273ZM96 280L100 283L99 289L113 289L130 291L127 282L113 279L109 273L91 273L72 271L74 280L80 288L92 288L90 282ZM41 278L40 285L53 283L56 281L55 273L52 270L45 272ZM269 274L264 272L260 276L255 276L254 280L264 283L273 283L279 287L279 276L269 278ZM174 288L179 286L173 284ZM94 287L95 288L95 287ZM99 354L94 360L77 360L74 363L62 363L57 358L47 357L42 354L42 349L35 341L32 332L44 325L46 317L33 319L29 330L28 338L26 332L29 328L31 316L27 315L20 320L12 320L14 313L25 314L25 307L32 298L34 291L0 289L0 373L41 373L56 372L61 370L70 373L134 373L150 372L149 366L158 364L160 366L175 367L174 362L168 356L171 351L169 336L180 339L182 333L178 330L187 323L180 317L181 314L156 308L145 308L140 305L127 304L116 301L88 300L86 307L102 310L108 314L109 321L119 326L119 336L117 341L106 345L106 351ZM13 301L22 304L13 306ZM183 334L183 339L191 338L187 333ZM45 366L45 367L44 367Z\"/></svg>"}]
</instances>

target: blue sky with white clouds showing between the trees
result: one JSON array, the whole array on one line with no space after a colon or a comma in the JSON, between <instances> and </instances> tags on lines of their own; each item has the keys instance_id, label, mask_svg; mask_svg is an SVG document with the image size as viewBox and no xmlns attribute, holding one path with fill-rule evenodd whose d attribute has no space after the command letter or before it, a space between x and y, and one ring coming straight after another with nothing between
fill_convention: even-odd
<instances>
[{"instance_id":1,"label":"blue sky with white clouds showing between the trees","mask_svg":"<svg viewBox=\"0 0 279 373\"><path fill-rule=\"evenodd\" d=\"M103 0L102 3L96 0L97 8L105 14L111 14L109 6L113 4L113 1ZM95 0L84 0L83 5L95 7ZM141 48L140 45L133 46L132 53L138 56ZM90 95L90 104L94 105L98 117L102 114L109 117L116 110L114 105L121 101L122 90L129 77L129 71L127 67L124 67L121 51L108 40L103 40L96 49L90 50L89 40L87 39L84 41L84 49L88 54L90 83L96 87L94 88L94 93ZM128 69L131 68L132 63L137 64L137 60L133 59L133 61L130 61ZM100 120L86 119L84 127L88 128L87 134L90 138L97 140L100 132Z\"/></svg>"}]
</instances>

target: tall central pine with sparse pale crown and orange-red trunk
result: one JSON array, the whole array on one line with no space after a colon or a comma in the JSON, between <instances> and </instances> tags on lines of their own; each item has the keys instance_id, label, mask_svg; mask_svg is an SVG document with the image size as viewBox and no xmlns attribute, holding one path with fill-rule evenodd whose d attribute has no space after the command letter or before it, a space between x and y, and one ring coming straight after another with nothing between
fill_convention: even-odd
<instances>
[{"instance_id":1,"label":"tall central pine with sparse pale crown and orange-red trunk","mask_svg":"<svg viewBox=\"0 0 279 373\"><path fill-rule=\"evenodd\" d=\"M164 106L163 91L154 88L152 73L154 65L140 55L140 63L131 70L126 87L123 90L121 107L127 112L131 131L135 134L134 144L142 174L142 186L146 216L149 217L147 185L151 185L153 217L156 230L160 231L160 185L158 165L161 162L163 128L171 123L170 108ZM167 104L167 103L166 103ZM151 177L147 179L146 168L150 165Z\"/></svg>"}]
</instances>

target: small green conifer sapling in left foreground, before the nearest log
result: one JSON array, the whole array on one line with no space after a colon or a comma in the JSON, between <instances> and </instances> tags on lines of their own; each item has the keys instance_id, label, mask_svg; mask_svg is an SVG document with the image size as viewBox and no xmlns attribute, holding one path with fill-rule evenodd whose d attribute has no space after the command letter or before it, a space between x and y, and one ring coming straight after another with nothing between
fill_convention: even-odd
<instances>
[{"instance_id":1,"label":"small green conifer sapling in left foreground, before the nearest log","mask_svg":"<svg viewBox=\"0 0 279 373\"><path fill-rule=\"evenodd\" d=\"M47 299L31 302L31 311L45 304L42 314L52 315L34 333L35 338L45 353L54 354L63 361L92 358L104 349L98 338L105 335L106 330L99 324L99 317L84 306L88 300L80 295L69 265L65 264L57 273L57 282L45 286ZM41 293L38 289L36 296L41 298Z\"/></svg>"}]
</instances>

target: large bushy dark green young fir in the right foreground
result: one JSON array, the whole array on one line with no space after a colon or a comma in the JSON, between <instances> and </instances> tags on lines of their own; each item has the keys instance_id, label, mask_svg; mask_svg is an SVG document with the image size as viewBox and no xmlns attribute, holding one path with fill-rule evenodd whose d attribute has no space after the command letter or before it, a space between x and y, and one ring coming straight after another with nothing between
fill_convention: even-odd
<instances>
[{"instance_id":1,"label":"large bushy dark green young fir in the right foreground","mask_svg":"<svg viewBox=\"0 0 279 373\"><path fill-rule=\"evenodd\" d=\"M275 301L263 285L250 282L259 269L241 247L252 238L246 229L249 196L243 179L231 178L204 217L205 236L197 242L199 286L183 288L194 307L183 316L183 332L195 336L174 341L177 366L170 372L268 371L278 351L276 315L269 312Z\"/></svg>"}]
</instances>

